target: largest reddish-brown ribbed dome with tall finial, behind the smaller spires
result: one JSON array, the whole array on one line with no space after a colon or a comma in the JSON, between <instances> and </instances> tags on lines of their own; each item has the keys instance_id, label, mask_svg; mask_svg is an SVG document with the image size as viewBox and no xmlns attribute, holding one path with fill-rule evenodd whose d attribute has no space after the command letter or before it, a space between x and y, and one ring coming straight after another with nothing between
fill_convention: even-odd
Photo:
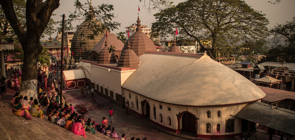
<instances>
[{"instance_id":1,"label":"largest reddish-brown ribbed dome with tall finial, behind the smaller spires","mask_svg":"<svg viewBox=\"0 0 295 140\"><path fill-rule=\"evenodd\" d=\"M131 49L135 52L135 54L140 57L147 51L157 51L154 42L141 30L141 24L139 20L139 16L137 18L137 28L136 32L129 37L129 43ZM127 45L125 44L122 52L126 50Z\"/></svg>"}]
</instances>

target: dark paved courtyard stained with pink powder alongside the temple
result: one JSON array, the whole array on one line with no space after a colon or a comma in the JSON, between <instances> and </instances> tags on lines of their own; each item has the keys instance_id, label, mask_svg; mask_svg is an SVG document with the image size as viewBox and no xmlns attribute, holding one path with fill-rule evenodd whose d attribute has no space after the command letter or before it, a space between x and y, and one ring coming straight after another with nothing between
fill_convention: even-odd
<instances>
[{"instance_id":1,"label":"dark paved courtyard stained with pink powder alongside the temple","mask_svg":"<svg viewBox=\"0 0 295 140\"><path fill-rule=\"evenodd\" d=\"M7 92L2 96L2 99L11 101L15 92L16 91ZM147 140L183 140L182 138L173 136L175 133L165 131L164 129L160 129L158 126L153 125L149 122L148 118L140 118L133 113L126 115L125 110L115 106L97 94L93 98L91 97L91 94L81 94L81 90L76 90L68 91L66 93L63 92L63 95L65 96L66 101L72 104L77 112L84 114L86 119L91 117L92 121L96 121L99 124L102 122L102 117L106 117L109 120L108 111L109 107L112 107L114 111L113 122L109 122L108 125L115 127L115 130L119 136L118 139L120 139L122 134L125 133L128 140L130 140L131 137L140 139L147 138ZM181 134L178 134L177 136L195 139L193 137L184 136ZM253 136L253 139L257 140L268 140L268 135L265 134L264 131L258 131L254 134L251 134L251 136ZM273 136L273 140L278 139L278 137Z\"/></svg>"}]
</instances>

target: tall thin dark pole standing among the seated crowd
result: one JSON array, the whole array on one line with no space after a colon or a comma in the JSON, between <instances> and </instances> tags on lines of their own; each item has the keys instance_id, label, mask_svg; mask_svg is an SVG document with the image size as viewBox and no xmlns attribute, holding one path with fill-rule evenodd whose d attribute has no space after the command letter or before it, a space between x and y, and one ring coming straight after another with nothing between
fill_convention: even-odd
<instances>
[{"instance_id":1,"label":"tall thin dark pole standing among the seated crowd","mask_svg":"<svg viewBox=\"0 0 295 140\"><path fill-rule=\"evenodd\" d=\"M63 14L63 25L61 32L61 59L60 59L60 110L63 109L63 45L65 34L65 14Z\"/></svg>"}]
</instances>

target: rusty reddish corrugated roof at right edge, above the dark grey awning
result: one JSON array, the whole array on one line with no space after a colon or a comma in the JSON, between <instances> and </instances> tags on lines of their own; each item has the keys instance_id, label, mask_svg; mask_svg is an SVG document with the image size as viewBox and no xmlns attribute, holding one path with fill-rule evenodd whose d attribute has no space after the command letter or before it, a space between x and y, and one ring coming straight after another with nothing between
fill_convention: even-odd
<instances>
[{"instance_id":1,"label":"rusty reddish corrugated roof at right edge, above the dark grey awning","mask_svg":"<svg viewBox=\"0 0 295 140\"><path fill-rule=\"evenodd\" d=\"M295 100L295 92L262 87L262 86L258 86L258 87L266 94L266 96L262 100L269 101L269 102L281 101L284 99Z\"/></svg>"}]
</instances>

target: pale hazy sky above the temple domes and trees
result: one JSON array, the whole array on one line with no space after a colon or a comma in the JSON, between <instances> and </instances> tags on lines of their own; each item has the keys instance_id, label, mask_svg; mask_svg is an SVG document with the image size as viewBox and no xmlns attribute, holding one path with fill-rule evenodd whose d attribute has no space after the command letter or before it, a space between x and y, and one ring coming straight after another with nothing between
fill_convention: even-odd
<instances>
[{"instance_id":1,"label":"pale hazy sky above the temple domes and trees","mask_svg":"<svg viewBox=\"0 0 295 140\"><path fill-rule=\"evenodd\" d=\"M58 9L54 11L56 16L52 18L55 21L60 21L62 17L60 15L65 14L66 17L70 14L69 11L74 11L74 1L75 0L61 0L60 6ZM79 0L81 3L87 2L87 0ZM155 17L153 17L152 13L148 13L145 9L144 0L139 2L139 0L92 0L92 5L97 6L102 3L108 3L114 5L114 13L117 17L113 20L116 22L121 23L121 27L118 27L119 30L112 31L115 32L124 32L125 27L127 25L136 23L137 20L137 11L138 5L140 7L140 20L141 23L145 23L148 27L151 27L151 24L156 21ZM148 1L148 0L146 0ZM178 4L184 0L173 0L174 4ZM262 13L266 14L266 18L270 21L268 27L274 27L274 25L285 23L286 21L291 21L292 17L295 17L295 0L281 0L278 4L271 4L268 1L275 1L275 0L245 0L245 2L252 6L253 9L257 11L262 11ZM147 3L146 3L147 5ZM155 14L156 11L153 11ZM81 21L82 22L82 21ZM78 22L76 23L78 24ZM55 37L56 33L52 35ZM45 37L46 39L48 37Z\"/></svg>"}]
</instances>

